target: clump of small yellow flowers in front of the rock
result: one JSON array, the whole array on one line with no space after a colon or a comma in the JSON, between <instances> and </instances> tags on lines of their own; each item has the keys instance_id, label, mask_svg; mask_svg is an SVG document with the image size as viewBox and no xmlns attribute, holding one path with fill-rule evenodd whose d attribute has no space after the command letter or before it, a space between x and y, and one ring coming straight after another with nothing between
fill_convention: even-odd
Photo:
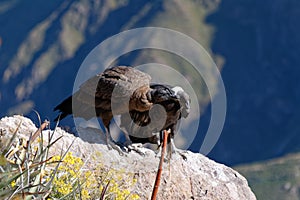
<instances>
[{"instance_id":1,"label":"clump of small yellow flowers in front of the rock","mask_svg":"<svg viewBox=\"0 0 300 200\"><path fill-rule=\"evenodd\" d=\"M97 161L99 157L91 156ZM61 158L56 156L53 157L54 159L60 160ZM109 183L105 198L139 199L137 194L130 194L130 188L137 182L133 176L134 174L126 173L124 170L107 169L102 163L98 163L93 170L84 171L83 160L68 152L58 167L51 197L61 198L76 190L78 198L80 192L82 199L95 199L101 195Z\"/></svg>"}]
</instances>

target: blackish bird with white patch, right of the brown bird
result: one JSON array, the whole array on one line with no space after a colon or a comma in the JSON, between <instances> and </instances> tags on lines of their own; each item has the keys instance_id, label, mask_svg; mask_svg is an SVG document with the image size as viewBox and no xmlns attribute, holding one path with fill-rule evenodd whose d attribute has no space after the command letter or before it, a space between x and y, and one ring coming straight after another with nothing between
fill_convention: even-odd
<instances>
[{"instance_id":1,"label":"blackish bird with white patch, right of the brown bird","mask_svg":"<svg viewBox=\"0 0 300 200\"><path fill-rule=\"evenodd\" d=\"M169 152L179 152L174 144L174 136L178 121L181 117L188 117L190 113L190 97L179 86L151 84L150 88L155 91L154 96L159 93L159 95L163 94L162 96L165 97L163 100L160 99L159 102L153 101L154 105L159 106L152 106L149 111L145 112L132 110L130 118L121 115L120 127L130 133L129 137L134 143L160 144L162 137L154 133L170 130L170 137L168 138Z\"/></svg>"}]
</instances>

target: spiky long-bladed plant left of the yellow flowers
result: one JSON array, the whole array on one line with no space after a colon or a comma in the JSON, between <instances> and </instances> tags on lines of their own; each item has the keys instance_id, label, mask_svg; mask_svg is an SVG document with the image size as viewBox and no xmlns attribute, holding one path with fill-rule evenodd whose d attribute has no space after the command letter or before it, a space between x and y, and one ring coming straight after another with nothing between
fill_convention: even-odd
<instances>
[{"instance_id":1,"label":"spiky long-bladed plant left of the yellow flowers","mask_svg":"<svg viewBox=\"0 0 300 200\"><path fill-rule=\"evenodd\" d=\"M46 166L49 164L49 148L59 139L43 144L42 130L48 122L41 124L40 128L29 136L29 139L20 138L17 132L22 122L19 123L12 137L1 141L0 149L0 198L23 199L42 198L50 192L52 179L45 178ZM2 130L3 131L3 130ZM2 134L3 135L3 134ZM35 140L38 139L36 142ZM50 177L54 177L55 173Z\"/></svg>"}]
</instances>

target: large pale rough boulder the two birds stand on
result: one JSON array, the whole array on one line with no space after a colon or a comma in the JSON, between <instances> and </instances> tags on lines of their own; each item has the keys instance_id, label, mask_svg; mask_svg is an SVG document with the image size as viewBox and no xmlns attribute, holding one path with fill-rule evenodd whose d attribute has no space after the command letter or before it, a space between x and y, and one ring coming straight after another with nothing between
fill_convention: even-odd
<instances>
[{"instance_id":1,"label":"large pale rough boulder the two birds stand on","mask_svg":"<svg viewBox=\"0 0 300 200\"><path fill-rule=\"evenodd\" d=\"M33 122L23 116L4 117L0 120L0 142L3 141L2 138L11 136L19 123L21 125L17 131L18 137L29 138L30 133L37 130ZM54 151L50 154L58 154L60 150L66 151L72 142L70 151L85 161L89 161L95 152L100 152L102 156L97 160L99 163L134 174L137 183L131 190L141 199L151 197L159 164L159 158L154 151L142 147L145 156L136 152L121 156L116 150L108 150L104 144L104 136L98 129L84 128L82 132L85 133L85 137L81 139L58 127L55 131L44 130L43 138L47 141L49 133L54 133L53 140L63 136L51 148ZM247 180L238 172L199 153L187 151L185 155L187 160L173 155L170 162L164 162L158 199L256 199ZM87 164L86 167L92 170L97 161Z\"/></svg>"}]
</instances>

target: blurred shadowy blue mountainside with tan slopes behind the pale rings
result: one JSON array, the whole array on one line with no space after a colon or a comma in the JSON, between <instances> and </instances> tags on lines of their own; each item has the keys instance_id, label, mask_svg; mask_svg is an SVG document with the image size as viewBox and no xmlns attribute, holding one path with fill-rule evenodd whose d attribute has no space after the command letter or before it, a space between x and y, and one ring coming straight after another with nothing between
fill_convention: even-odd
<instances>
[{"instance_id":1,"label":"blurred shadowy blue mountainside with tan slopes behind the pale rings","mask_svg":"<svg viewBox=\"0 0 300 200\"><path fill-rule=\"evenodd\" d=\"M121 31L158 26L198 41L221 70L227 117L210 158L236 165L297 152L298 19L298 0L2 0L0 115L33 118L37 110L52 120L53 108L72 93L76 73L96 45ZM116 62L158 62L179 71L189 65L155 50L135 51ZM190 149L198 151L210 120L210 98L205 83L195 81L202 116ZM72 120L61 123L72 126Z\"/></svg>"}]
</instances>

